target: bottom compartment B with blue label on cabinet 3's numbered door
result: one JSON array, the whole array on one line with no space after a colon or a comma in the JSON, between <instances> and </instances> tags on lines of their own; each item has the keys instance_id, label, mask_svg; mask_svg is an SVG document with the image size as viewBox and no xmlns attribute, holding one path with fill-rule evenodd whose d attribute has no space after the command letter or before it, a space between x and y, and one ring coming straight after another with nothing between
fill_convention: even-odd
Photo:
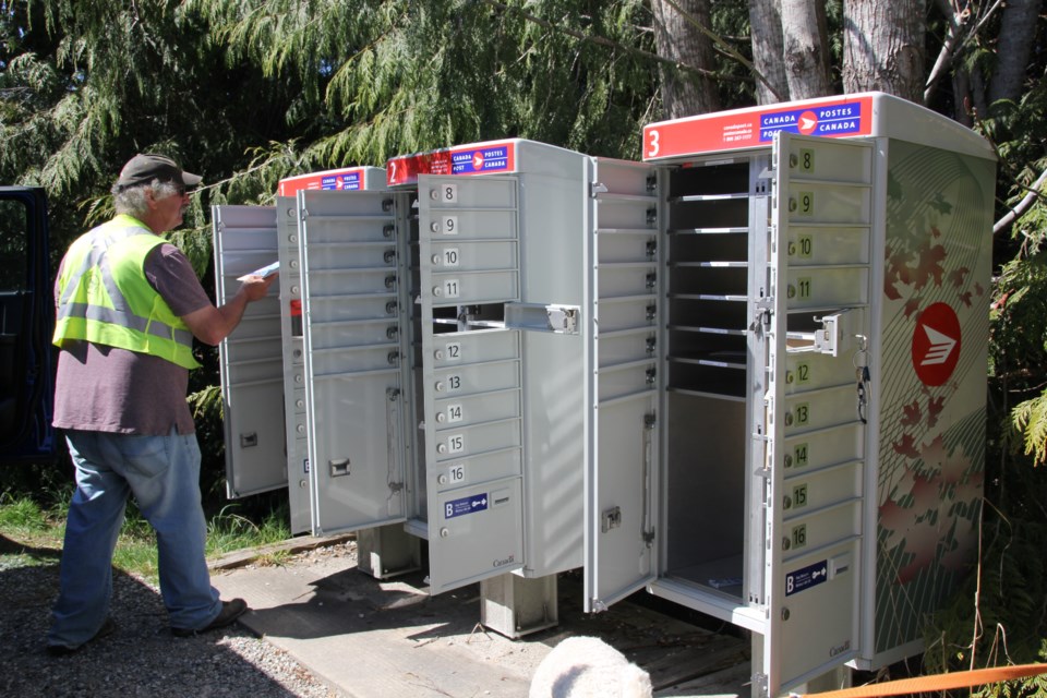
<instances>
[{"instance_id":1,"label":"bottom compartment B with blue label on cabinet 3's numbered door","mask_svg":"<svg viewBox=\"0 0 1047 698\"><path fill-rule=\"evenodd\" d=\"M779 590L782 607L774 613L793 637L802 642L783 642L781 665L795 676L833 659L858 653L858 613L855 603L861 583L862 546L847 541L827 550L791 559ZM833 609L833 613L826 613Z\"/></svg>"}]
</instances>

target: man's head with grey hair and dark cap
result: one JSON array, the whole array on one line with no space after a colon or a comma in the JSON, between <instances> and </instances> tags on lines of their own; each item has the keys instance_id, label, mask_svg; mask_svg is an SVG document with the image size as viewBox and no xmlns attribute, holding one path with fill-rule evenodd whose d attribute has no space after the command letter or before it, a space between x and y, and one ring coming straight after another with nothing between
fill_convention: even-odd
<instances>
[{"instance_id":1,"label":"man's head with grey hair and dark cap","mask_svg":"<svg viewBox=\"0 0 1047 698\"><path fill-rule=\"evenodd\" d=\"M201 177L163 155L139 154L128 160L112 186L118 214L134 216L160 233L178 227L188 204L185 191Z\"/></svg>"}]
</instances>

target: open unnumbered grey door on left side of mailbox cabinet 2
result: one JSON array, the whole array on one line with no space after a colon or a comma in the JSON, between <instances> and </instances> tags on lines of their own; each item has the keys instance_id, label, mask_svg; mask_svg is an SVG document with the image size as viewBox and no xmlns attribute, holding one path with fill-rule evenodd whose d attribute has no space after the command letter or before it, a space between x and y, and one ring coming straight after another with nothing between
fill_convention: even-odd
<instances>
[{"instance_id":1,"label":"open unnumbered grey door on left side of mailbox cabinet 2","mask_svg":"<svg viewBox=\"0 0 1047 698\"><path fill-rule=\"evenodd\" d=\"M387 191L298 193L314 534L404 521L404 242Z\"/></svg>"}]
</instances>

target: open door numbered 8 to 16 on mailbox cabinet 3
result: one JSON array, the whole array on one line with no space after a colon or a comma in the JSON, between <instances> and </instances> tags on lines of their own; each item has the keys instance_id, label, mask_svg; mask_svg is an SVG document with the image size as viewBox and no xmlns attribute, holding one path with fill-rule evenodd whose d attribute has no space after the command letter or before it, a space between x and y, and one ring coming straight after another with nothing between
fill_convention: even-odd
<instances>
[{"instance_id":1,"label":"open door numbered 8 to 16 on mailbox cabinet 3","mask_svg":"<svg viewBox=\"0 0 1047 698\"><path fill-rule=\"evenodd\" d=\"M773 146L761 323L767 626L754 695L858 653L874 151L781 132Z\"/></svg>"}]
</instances>

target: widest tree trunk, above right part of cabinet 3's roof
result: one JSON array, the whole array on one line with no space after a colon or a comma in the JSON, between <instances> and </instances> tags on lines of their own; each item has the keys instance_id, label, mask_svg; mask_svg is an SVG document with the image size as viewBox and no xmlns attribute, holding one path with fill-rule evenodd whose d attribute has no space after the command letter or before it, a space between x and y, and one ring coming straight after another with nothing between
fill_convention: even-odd
<instances>
[{"instance_id":1,"label":"widest tree trunk, above right part of cabinet 3's roof","mask_svg":"<svg viewBox=\"0 0 1047 698\"><path fill-rule=\"evenodd\" d=\"M844 0L843 91L923 103L925 0Z\"/></svg>"}]
</instances>

